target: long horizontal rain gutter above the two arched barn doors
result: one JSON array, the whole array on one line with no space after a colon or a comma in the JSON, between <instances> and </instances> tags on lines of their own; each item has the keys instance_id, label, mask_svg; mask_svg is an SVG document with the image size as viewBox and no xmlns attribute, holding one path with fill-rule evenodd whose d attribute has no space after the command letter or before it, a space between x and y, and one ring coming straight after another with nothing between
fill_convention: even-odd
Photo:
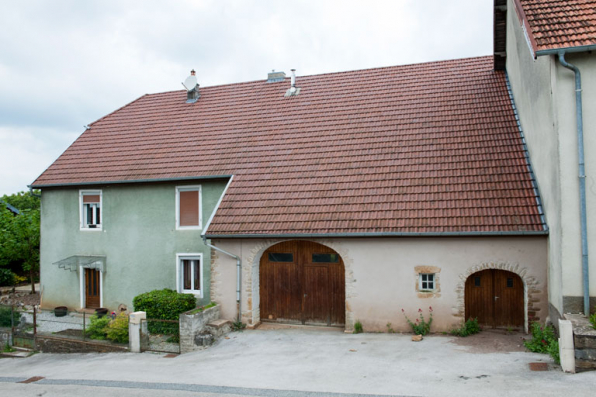
<instances>
[{"instance_id":1,"label":"long horizontal rain gutter above the two arched barn doors","mask_svg":"<svg viewBox=\"0 0 596 397\"><path fill-rule=\"evenodd\" d=\"M371 232L371 233L288 233L288 234L210 234L205 238L338 238L338 237L477 237L477 236L545 236L548 230L515 232Z\"/></svg>"}]
</instances>

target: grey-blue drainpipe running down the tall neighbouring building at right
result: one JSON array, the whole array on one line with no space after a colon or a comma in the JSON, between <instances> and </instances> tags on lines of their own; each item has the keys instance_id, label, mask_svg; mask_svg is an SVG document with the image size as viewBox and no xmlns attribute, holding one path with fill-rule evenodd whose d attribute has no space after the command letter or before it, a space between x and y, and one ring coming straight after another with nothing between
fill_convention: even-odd
<instances>
[{"instance_id":1,"label":"grey-blue drainpipe running down the tall neighbouring building at right","mask_svg":"<svg viewBox=\"0 0 596 397\"><path fill-rule=\"evenodd\" d=\"M584 122L582 116L582 80L577 66L565 61L559 52L559 62L575 73L575 113L577 118L577 150L579 154L579 216L582 236L582 276L584 284L584 314L590 315L590 280L588 278L588 225L586 220L586 169L584 164Z\"/></svg>"}]
</instances>

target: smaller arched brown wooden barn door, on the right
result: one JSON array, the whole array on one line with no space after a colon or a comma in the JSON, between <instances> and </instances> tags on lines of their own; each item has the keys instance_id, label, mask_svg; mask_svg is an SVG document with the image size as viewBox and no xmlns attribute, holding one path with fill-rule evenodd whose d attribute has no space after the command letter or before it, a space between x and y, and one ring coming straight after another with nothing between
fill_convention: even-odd
<instances>
[{"instance_id":1,"label":"smaller arched brown wooden barn door, on the right","mask_svg":"<svg viewBox=\"0 0 596 397\"><path fill-rule=\"evenodd\" d=\"M489 327L524 326L524 286L512 272L482 270L466 280L466 319Z\"/></svg>"}]
</instances>

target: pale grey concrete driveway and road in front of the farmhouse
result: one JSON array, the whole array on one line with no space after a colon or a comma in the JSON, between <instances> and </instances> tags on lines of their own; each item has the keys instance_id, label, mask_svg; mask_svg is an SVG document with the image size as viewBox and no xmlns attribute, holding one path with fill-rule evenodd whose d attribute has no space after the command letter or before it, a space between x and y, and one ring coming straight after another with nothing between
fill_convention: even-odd
<instances>
[{"instance_id":1,"label":"pale grey concrete driveway and road in front of the farmhouse","mask_svg":"<svg viewBox=\"0 0 596 397\"><path fill-rule=\"evenodd\" d=\"M520 350L516 347L519 335L512 335L516 340L510 344L502 336L491 338L489 332L477 337L483 339L432 335L411 342L409 335L349 335L299 328L244 331L229 338L207 350L175 358L113 353L2 359L0 390L11 395L165 396L194 392L220 397L595 393L596 372L563 374L548 356L515 351ZM492 339L501 342L491 347ZM550 369L533 372L531 362L549 363ZM33 376L45 379L15 383Z\"/></svg>"}]
</instances>

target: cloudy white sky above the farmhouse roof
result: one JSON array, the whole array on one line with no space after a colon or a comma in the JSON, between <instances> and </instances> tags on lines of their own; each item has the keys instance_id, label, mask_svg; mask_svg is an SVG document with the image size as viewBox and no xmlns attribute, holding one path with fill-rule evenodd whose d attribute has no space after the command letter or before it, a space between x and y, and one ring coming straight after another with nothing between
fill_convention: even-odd
<instances>
[{"instance_id":1,"label":"cloudy white sky above the farmhouse roof","mask_svg":"<svg viewBox=\"0 0 596 397\"><path fill-rule=\"evenodd\" d=\"M491 54L492 0L0 0L0 196L145 93Z\"/></svg>"}]
</instances>

